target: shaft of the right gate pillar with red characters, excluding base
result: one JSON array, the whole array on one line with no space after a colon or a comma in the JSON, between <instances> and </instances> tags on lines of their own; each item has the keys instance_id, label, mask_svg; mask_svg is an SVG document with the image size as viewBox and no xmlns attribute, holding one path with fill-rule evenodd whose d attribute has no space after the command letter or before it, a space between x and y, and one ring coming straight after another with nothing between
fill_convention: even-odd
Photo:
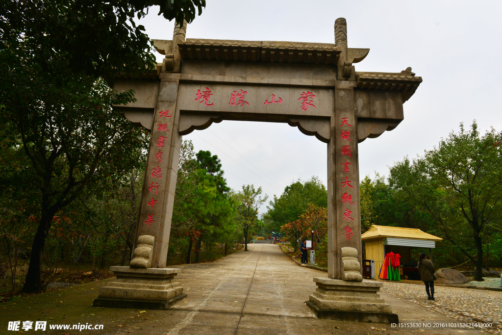
<instances>
[{"instance_id":1,"label":"shaft of the right gate pillar with red characters, excluding base","mask_svg":"<svg viewBox=\"0 0 502 335\"><path fill-rule=\"evenodd\" d=\"M335 82L328 144L328 278L331 279L342 278L343 247L355 248L362 264L355 86L355 81Z\"/></svg>"}]
</instances>

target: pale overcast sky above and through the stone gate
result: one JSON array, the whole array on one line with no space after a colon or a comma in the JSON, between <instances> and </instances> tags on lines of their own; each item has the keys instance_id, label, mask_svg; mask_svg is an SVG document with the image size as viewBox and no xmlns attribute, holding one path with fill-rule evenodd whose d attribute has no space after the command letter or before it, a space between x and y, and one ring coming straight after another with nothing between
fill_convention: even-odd
<instances>
[{"instance_id":1,"label":"pale overcast sky above and through the stone gate","mask_svg":"<svg viewBox=\"0 0 502 335\"><path fill-rule=\"evenodd\" d=\"M171 40L174 21L157 13L151 9L140 24L150 38ZM405 119L395 130L359 144L362 179L375 172L387 176L389 166L432 149L461 122L476 120L482 132L502 129L501 13L500 1L207 0L186 37L334 43L334 22L343 17L348 46L370 48L356 71L411 66L423 82L404 104ZM159 62L163 57L157 54ZM272 198L297 179L318 176L326 184L326 144L288 124L223 121L184 139L196 151L218 155L234 189L254 184Z\"/></svg>"}]
</instances>

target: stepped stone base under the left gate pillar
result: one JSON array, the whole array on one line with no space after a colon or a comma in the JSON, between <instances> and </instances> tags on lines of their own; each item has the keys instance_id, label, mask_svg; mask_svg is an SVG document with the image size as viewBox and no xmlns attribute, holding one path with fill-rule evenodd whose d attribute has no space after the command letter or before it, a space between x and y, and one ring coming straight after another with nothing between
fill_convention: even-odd
<instances>
[{"instance_id":1,"label":"stepped stone base under the left gate pillar","mask_svg":"<svg viewBox=\"0 0 502 335\"><path fill-rule=\"evenodd\" d=\"M175 280L180 269L112 266L110 270L117 278L99 289L95 307L168 309L186 297Z\"/></svg>"}]
</instances>

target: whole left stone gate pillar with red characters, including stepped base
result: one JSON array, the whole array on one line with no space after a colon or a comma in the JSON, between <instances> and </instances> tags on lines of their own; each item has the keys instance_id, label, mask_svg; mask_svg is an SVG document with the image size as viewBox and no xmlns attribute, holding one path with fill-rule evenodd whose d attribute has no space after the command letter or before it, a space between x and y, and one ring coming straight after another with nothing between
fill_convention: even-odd
<instances>
[{"instance_id":1,"label":"whole left stone gate pillar with red characters, including stepped base","mask_svg":"<svg viewBox=\"0 0 502 335\"><path fill-rule=\"evenodd\" d=\"M186 24L175 29L173 46L184 39L185 30ZM178 47L173 49L179 60ZM181 270L165 268L181 147L176 113L179 77L160 75L131 266L110 268L117 277L99 289L93 306L168 309L186 297L175 278Z\"/></svg>"}]
</instances>

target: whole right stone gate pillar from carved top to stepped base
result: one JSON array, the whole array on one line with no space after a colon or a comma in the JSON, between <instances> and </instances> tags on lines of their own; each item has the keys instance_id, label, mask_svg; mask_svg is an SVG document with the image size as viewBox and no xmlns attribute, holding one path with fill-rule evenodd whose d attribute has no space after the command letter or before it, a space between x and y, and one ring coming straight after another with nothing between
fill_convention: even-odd
<instances>
[{"instance_id":1,"label":"whole right stone gate pillar from carved top to stepped base","mask_svg":"<svg viewBox=\"0 0 502 335\"><path fill-rule=\"evenodd\" d=\"M335 22L341 50L334 86L335 105L328 143L328 278L314 278L317 288L306 304L317 317L359 322L398 322L380 298L382 283L362 280L359 159L352 63L347 62L347 25Z\"/></svg>"}]
</instances>

